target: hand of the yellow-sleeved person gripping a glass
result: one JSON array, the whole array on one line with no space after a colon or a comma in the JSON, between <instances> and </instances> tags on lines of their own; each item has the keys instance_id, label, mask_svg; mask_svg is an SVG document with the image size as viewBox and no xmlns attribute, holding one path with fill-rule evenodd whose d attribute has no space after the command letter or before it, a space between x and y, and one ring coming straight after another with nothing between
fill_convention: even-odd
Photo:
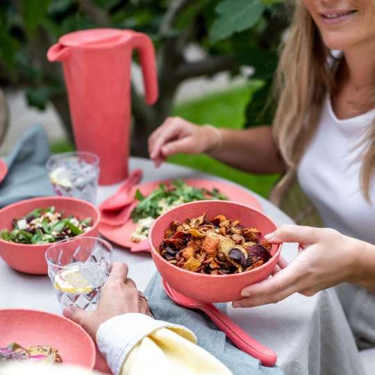
<instances>
[{"instance_id":1,"label":"hand of the yellow-sleeved person gripping a glass","mask_svg":"<svg viewBox=\"0 0 375 375\"><path fill-rule=\"evenodd\" d=\"M101 290L97 310L92 313L80 308L65 308L65 317L82 326L95 340L101 323L117 315L126 313L142 313L151 316L147 300L135 287L128 275L125 263L113 263L112 271Z\"/></svg>"}]
</instances>

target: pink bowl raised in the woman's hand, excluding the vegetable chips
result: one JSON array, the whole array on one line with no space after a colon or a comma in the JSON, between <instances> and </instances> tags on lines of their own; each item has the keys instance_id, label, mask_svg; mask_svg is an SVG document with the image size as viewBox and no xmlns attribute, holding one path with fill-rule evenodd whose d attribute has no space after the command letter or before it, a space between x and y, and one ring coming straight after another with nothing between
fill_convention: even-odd
<instances>
[{"instance_id":1,"label":"pink bowl raised in the woman's hand, excluding the vegetable chips","mask_svg":"<svg viewBox=\"0 0 375 375\"><path fill-rule=\"evenodd\" d=\"M149 231L149 244L156 268L164 281L186 297L205 302L229 302L241 299L242 288L258 283L272 274L278 263L281 247L272 245L272 258L267 263L241 274L197 274L168 263L158 253L165 229L171 222L183 222L191 217L199 217L203 213L206 213L208 218L225 215L232 220L238 219L243 226L258 228L262 235L276 229L276 224L265 214L240 203L196 201L181 204L158 217Z\"/></svg>"}]
</instances>

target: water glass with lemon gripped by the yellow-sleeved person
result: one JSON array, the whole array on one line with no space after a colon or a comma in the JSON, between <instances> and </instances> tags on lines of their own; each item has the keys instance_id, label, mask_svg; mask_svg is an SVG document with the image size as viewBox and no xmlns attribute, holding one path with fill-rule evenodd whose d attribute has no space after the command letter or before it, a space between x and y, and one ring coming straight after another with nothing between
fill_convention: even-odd
<instances>
[{"instance_id":1,"label":"water glass with lemon gripped by the yellow-sleeved person","mask_svg":"<svg viewBox=\"0 0 375 375\"><path fill-rule=\"evenodd\" d=\"M110 273L112 246L94 237L69 238L46 251L48 275L61 310L76 306L94 311Z\"/></svg>"}]
</instances>

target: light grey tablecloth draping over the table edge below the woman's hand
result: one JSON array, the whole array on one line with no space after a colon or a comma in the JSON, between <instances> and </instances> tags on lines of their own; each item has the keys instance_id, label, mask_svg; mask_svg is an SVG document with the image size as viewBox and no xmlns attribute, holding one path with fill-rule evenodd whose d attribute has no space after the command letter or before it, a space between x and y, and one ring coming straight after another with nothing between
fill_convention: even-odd
<instances>
[{"instance_id":1,"label":"light grey tablecloth draping over the table edge below the woman's hand","mask_svg":"<svg viewBox=\"0 0 375 375\"><path fill-rule=\"evenodd\" d=\"M278 353L285 375L365 374L356 341L333 288L314 297L294 294L274 305L228 315Z\"/></svg>"}]
</instances>

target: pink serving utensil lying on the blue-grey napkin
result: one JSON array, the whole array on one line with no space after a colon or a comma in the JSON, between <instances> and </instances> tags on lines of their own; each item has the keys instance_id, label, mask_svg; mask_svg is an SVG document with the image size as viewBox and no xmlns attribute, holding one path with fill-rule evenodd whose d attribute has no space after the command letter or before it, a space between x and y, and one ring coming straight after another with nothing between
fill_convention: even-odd
<instances>
[{"instance_id":1,"label":"pink serving utensil lying on the blue-grey napkin","mask_svg":"<svg viewBox=\"0 0 375 375\"><path fill-rule=\"evenodd\" d=\"M225 314L215 308L212 303L196 301L185 297L183 294L171 288L164 280L163 286L168 297L179 306L201 310L208 315L208 317L210 317L216 326L226 334L228 339L230 339L238 349L241 349L245 353L250 354L250 356L257 358L265 366L273 367L276 364L277 355L274 351L251 338L251 336L244 332L240 326L235 324Z\"/></svg>"}]
</instances>

